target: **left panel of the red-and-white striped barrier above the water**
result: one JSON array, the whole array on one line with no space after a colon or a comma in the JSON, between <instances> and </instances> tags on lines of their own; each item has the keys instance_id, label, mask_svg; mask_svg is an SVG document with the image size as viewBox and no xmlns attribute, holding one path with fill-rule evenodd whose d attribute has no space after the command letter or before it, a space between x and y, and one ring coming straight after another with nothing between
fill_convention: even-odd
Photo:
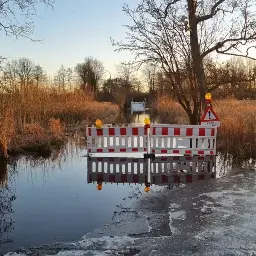
<instances>
[{"instance_id":1,"label":"left panel of the red-and-white striped barrier above the water","mask_svg":"<svg viewBox=\"0 0 256 256\"><path fill-rule=\"evenodd\" d=\"M145 153L147 147L147 129L144 127L87 128L88 153Z\"/></svg>"}]
</instances>

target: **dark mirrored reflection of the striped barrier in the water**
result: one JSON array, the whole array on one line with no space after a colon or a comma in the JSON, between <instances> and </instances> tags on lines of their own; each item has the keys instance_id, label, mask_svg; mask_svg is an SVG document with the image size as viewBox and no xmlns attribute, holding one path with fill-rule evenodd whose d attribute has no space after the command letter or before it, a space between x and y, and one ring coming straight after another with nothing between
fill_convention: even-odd
<instances>
[{"instance_id":1,"label":"dark mirrored reflection of the striped barrier in the water","mask_svg":"<svg viewBox=\"0 0 256 256\"><path fill-rule=\"evenodd\" d=\"M214 156L169 156L154 159L121 157L88 157L88 183L150 185L192 183L216 178Z\"/></svg>"}]
</instances>

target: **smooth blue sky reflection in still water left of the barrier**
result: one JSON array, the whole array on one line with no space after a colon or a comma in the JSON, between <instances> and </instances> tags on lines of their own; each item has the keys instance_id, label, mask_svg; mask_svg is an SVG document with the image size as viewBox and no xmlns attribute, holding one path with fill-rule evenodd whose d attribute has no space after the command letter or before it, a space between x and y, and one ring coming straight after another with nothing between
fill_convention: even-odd
<instances>
[{"instance_id":1,"label":"smooth blue sky reflection in still water left of the barrier","mask_svg":"<svg viewBox=\"0 0 256 256\"><path fill-rule=\"evenodd\" d=\"M30 167L20 161L15 180L9 180L17 196L12 203L14 230L9 234L14 243L5 244L4 250L52 243L55 238L80 239L111 222L116 205L126 204L123 198L136 186L107 184L97 191L96 184L87 184L87 159L82 155L76 152L59 167Z\"/></svg>"}]
</instances>

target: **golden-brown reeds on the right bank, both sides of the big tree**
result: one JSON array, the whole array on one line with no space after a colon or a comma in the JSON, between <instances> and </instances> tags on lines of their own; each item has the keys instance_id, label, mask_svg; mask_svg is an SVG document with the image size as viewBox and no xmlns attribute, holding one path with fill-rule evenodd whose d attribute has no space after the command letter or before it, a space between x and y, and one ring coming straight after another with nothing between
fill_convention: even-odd
<instances>
[{"instance_id":1,"label":"golden-brown reeds on the right bank, both sides of the big tree","mask_svg":"<svg viewBox=\"0 0 256 256\"><path fill-rule=\"evenodd\" d=\"M218 100L214 110L221 120L217 147L224 155L232 155L233 161L241 163L256 159L256 101ZM182 107L169 98L159 98L155 108L166 123L188 123Z\"/></svg>"}]
</instances>

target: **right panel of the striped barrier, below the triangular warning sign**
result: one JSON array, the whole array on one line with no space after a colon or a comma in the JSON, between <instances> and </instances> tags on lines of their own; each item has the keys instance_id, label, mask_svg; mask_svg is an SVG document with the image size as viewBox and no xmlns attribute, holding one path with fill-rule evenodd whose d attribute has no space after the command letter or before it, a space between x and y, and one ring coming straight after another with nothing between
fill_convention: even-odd
<instances>
[{"instance_id":1,"label":"right panel of the striped barrier, below the triangular warning sign","mask_svg":"<svg viewBox=\"0 0 256 256\"><path fill-rule=\"evenodd\" d=\"M216 128L200 125L156 125L150 129L151 153L215 155L216 135Z\"/></svg>"}]
</instances>

